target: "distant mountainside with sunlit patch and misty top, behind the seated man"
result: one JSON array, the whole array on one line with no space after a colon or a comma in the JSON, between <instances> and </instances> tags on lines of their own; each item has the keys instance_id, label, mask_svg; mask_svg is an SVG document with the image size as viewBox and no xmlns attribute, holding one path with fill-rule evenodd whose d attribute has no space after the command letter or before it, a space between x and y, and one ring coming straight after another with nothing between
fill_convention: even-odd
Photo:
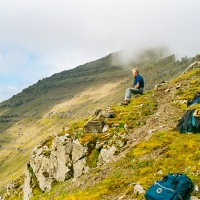
<instances>
[{"instance_id":1,"label":"distant mountainside with sunlit patch and misty top, behind the seated man","mask_svg":"<svg viewBox=\"0 0 200 200\"><path fill-rule=\"evenodd\" d=\"M121 62L120 54L54 74L0 104L2 193L7 182L24 173L36 144L52 133L67 130L78 120L87 121L97 108L121 102L125 89L132 83L132 67L139 65L148 91L155 84L181 74L196 60L194 57L176 61L171 55L160 60L147 56L145 62L137 59Z\"/></svg>"}]
</instances>

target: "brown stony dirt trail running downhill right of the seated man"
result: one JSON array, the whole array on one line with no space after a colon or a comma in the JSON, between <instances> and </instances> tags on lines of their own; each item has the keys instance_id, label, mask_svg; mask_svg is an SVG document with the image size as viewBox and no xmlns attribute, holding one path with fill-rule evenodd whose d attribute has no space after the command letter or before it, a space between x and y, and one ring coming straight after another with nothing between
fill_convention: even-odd
<instances>
[{"instance_id":1,"label":"brown stony dirt trail running downhill right of the seated man","mask_svg":"<svg viewBox=\"0 0 200 200\"><path fill-rule=\"evenodd\" d=\"M157 111L146 118L146 124L135 129L128 135L128 145L125 150L116 157L123 157L133 146L141 141L149 139L155 132L162 130L172 130L177 125L177 120L180 118L180 111L172 105L172 100L175 99L176 88L169 88L166 84L155 92L155 97L158 103Z\"/></svg>"}]
</instances>

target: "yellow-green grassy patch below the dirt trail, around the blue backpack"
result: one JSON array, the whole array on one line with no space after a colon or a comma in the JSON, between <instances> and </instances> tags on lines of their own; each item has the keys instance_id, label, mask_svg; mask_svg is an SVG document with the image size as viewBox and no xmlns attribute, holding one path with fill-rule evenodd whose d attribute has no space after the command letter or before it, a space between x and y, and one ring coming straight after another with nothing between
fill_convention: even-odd
<instances>
[{"instance_id":1,"label":"yellow-green grassy patch below the dirt trail, around the blue backpack","mask_svg":"<svg viewBox=\"0 0 200 200\"><path fill-rule=\"evenodd\" d=\"M54 196L54 199L60 200L100 200L107 195L116 196L124 193L134 198L134 182L147 189L155 180L167 173L185 173L196 185L200 185L199 146L199 134L181 135L175 131L157 132L148 141L138 144L124 158L114 163L112 172L93 187L73 188L69 191L67 185L64 188L64 183L62 183L62 195L56 195L59 187L57 186L48 193L48 196ZM91 176L95 176L95 172L91 173ZM43 199L48 199L46 195L42 195ZM143 195L137 196L136 199L143 199Z\"/></svg>"}]
</instances>

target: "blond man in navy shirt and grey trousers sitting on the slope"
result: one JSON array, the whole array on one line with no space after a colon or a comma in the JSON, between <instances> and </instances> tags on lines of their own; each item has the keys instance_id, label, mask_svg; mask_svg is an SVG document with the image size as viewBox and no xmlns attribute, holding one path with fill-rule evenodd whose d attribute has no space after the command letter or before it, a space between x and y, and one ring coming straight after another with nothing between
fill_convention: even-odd
<instances>
[{"instance_id":1,"label":"blond man in navy shirt and grey trousers sitting on the slope","mask_svg":"<svg viewBox=\"0 0 200 200\"><path fill-rule=\"evenodd\" d=\"M138 68L132 69L132 75L135 77L135 80L133 82L133 87L128 88L125 93L124 101L122 102L122 105L128 105L130 103L131 94L143 94L143 88L144 88L144 80L142 76L139 74Z\"/></svg>"}]
</instances>

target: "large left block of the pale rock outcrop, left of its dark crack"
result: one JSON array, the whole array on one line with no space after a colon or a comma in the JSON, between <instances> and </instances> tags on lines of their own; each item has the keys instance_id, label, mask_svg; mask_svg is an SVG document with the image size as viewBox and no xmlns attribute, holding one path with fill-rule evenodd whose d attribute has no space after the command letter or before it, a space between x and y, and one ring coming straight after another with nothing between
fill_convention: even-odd
<instances>
[{"instance_id":1,"label":"large left block of the pale rock outcrop, left of its dark crack","mask_svg":"<svg viewBox=\"0 0 200 200\"><path fill-rule=\"evenodd\" d=\"M67 136L56 137L52 149L36 147L31 153L30 167L42 191L50 190L54 181L72 177L72 140Z\"/></svg>"}]
</instances>

